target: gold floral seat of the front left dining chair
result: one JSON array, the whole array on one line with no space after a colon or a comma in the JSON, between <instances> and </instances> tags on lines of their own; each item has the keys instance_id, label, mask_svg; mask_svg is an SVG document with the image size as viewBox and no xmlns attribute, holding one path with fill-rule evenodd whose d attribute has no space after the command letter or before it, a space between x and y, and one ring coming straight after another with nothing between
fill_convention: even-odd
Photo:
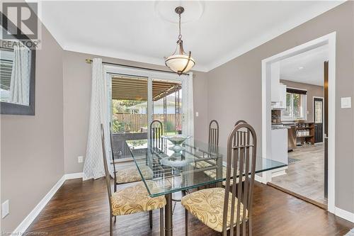
<instances>
[{"instance_id":1,"label":"gold floral seat of the front left dining chair","mask_svg":"<svg viewBox=\"0 0 354 236\"><path fill-rule=\"evenodd\" d=\"M153 181L147 181L147 184L155 185ZM129 215L164 208L166 205L164 196L150 197L143 182L118 190L112 194L111 200L113 215Z\"/></svg>"}]
</instances>

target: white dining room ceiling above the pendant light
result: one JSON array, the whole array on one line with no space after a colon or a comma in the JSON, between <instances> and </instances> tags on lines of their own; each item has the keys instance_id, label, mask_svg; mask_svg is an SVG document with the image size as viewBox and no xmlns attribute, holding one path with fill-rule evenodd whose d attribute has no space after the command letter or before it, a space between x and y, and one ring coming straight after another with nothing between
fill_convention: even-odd
<instances>
[{"instance_id":1,"label":"white dining room ceiling above the pendant light","mask_svg":"<svg viewBox=\"0 0 354 236\"><path fill-rule=\"evenodd\" d=\"M40 18L64 50L164 64L182 5L185 50L209 71L342 2L42 1Z\"/></svg>"}]
</instances>

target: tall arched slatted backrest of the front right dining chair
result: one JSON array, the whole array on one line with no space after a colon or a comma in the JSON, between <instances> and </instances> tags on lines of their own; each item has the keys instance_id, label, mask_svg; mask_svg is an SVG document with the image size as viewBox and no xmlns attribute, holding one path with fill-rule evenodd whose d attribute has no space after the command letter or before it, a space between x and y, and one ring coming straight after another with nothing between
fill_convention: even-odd
<instances>
[{"instance_id":1,"label":"tall arched slatted backrest of the front right dining chair","mask_svg":"<svg viewBox=\"0 0 354 236\"><path fill-rule=\"evenodd\" d=\"M222 221L223 235L227 235L227 216L230 216L230 235L234 235L234 225L236 225L236 235L246 235L248 220L249 235L251 235L251 215L253 201L254 176L256 174L256 132L244 120L236 123L236 126L229 134L227 140L227 181L228 188L224 196L224 215ZM233 173L232 173L233 172ZM233 181L231 179L233 176ZM238 176L238 178L236 178ZM244 176L244 178L243 178ZM244 181L243 181L244 179ZM229 212L229 196L231 198L231 211ZM237 201L236 201L237 199ZM243 210L241 213L241 205ZM234 214L236 209L236 214ZM242 225L242 227L240 227Z\"/></svg>"}]
</instances>

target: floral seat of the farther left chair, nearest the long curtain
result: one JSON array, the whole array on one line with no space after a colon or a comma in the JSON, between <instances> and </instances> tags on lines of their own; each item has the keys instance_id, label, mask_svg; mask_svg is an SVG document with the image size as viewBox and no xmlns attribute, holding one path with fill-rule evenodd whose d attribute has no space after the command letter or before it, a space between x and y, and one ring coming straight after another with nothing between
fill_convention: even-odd
<instances>
[{"instance_id":1,"label":"floral seat of the farther left chair, nearest the long curtain","mask_svg":"<svg viewBox=\"0 0 354 236\"><path fill-rule=\"evenodd\" d=\"M152 179L153 173L150 167L139 166L139 168L140 171L142 172L142 175L144 176L144 179ZM125 169L118 170L118 172L115 173L115 178L117 184L126 184L126 183L142 181L142 176L140 175L139 170L137 169L136 166L127 167Z\"/></svg>"}]
</instances>

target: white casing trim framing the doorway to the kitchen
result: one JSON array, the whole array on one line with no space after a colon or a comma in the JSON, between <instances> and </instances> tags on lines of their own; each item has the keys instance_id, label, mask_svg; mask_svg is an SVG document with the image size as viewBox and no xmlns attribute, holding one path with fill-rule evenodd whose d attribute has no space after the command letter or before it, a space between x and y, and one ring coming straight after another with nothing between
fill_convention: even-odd
<instances>
[{"instance_id":1,"label":"white casing trim framing the doorway to the kitchen","mask_svg":"<svg viewBox=\"0 0 354 236\"><path fill-rule=\"evenodd\" d=\"M262 156L271 159L271 100L270 64L298 55L322 45L329 45L329 173L328 173L328 210L335 212L335 154L336 154L336 31L321 36L302 45L285 50L262 60ZM271 173L262 174L264 182L271 181Z\"/></svg>"}]
</instances>

